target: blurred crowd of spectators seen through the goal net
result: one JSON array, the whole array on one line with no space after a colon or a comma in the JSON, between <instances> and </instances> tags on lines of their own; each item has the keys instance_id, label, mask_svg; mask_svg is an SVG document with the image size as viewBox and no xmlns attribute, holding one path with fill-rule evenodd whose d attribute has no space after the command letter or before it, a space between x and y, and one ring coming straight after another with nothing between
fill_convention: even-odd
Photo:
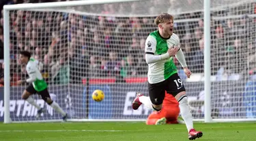
<instances>
[{"instance_id":1,"label":"blurred crowd of spectators seen through the goal net","mask_svg":"<svg viewBox=\"0 0 256 141\"><path fill-rule=\"evenodd\" d=\"M15 4L45 1L1 2ZM173 3L173 0L169 3ZM95 77L115 77L118 82L125 82L126 77L145 77L145 39L157 29L154 25L156 16L102 16L113 14L124 7L120 5L120 9L117 9L112 4L100 7L94 7L94 10L100 11L98 15L43 10L10 12L12 85L16 85L18 79L27 77L25 66L18 61L18 52L23 49L44 64L40 71L50 84L82 83L81 79ZM153 14L154 10L151 8L150 12ZM0 60L3 59L1 12ZM159 12L156 10L155 13ZM219 80L223 75L228 75L230 80L237 75L240 79L255 75L255 14L256 3L212 12L211 66L212 75L217 75ZM180 37L190 70L203 73L203 13L175 14L174 17L174 33ZM3 74L3 61L0 63L0 74ZM175 63L182 70L177 60ZM1 79L0 85L3 85Z\"/></svg>"}]
</instances>

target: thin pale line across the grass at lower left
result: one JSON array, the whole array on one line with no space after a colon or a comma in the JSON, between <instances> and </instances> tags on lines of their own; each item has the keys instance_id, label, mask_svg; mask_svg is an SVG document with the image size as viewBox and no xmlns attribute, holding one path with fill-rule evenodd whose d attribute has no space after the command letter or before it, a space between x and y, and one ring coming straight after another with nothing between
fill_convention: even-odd
<instances>
[{"instance_id":1,"label":"thin pale line across the grass at lower left","mask_svg":"<svg viewBox=\"0 0 256 141\"><path fill-rule=\"evenodd\" d=\"M124 132L126 130L57 129L57 130L0 130L1 132Z\"/></svg>"}]
</instances>

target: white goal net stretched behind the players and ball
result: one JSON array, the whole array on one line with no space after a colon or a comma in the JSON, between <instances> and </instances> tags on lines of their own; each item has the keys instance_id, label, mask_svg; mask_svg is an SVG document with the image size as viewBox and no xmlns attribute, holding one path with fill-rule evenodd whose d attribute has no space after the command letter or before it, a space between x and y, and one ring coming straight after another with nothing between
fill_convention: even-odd
<instances>
[{"instance_id":1,"label":"white goal net stretched behind the players and ball","mask_svg":"<svg viewBox=\"0 0 256 141\"><path fill-rule=\"evenodd\" d=\"M203 119L202 0L74 3L77 1L53 4L56 7L42 3L23 9L17 6L5 17L10 20L12 121L61 119L38 95L33 97L46 108L40 119L35 119L37 110L21 100L28 86L16 84L27 78L25 66L18 61L18 52L24 49L43 64L40 71L51 98L72 121L145 120L152 110L145 106L132 110L131 104L136 92L148 94L145 39L157 29L154 18L161 12L175 18L174 33L180 37L192 77L186 78L174 58L175 64L194 119ZM211 7L212 117L230 121L256 118L256 3L216 0ZM104 92L102 102L92 100L95 89Z\"/></svg>"}]
</instances>

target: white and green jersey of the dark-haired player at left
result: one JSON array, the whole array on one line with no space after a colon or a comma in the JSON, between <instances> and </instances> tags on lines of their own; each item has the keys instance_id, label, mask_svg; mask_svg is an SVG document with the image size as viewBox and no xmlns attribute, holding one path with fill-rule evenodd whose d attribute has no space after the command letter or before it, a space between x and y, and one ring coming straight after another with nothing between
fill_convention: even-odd
<instances>
[{"instance_id":1,"label":"white and green jersey of the dark-haired player at left","mask_svg":"<svg viewBox=\"0 0 256 141\"><path fill-rule=\"evenodd\" d=\"M27 62L26 71L29 75L29 78L34 78L35 81L33 81L33 87L37 92L41 92L42 90L47 88L47 83L44 81L40 71L39 71L40 64L38 60L35 60L33 58L29 59L29 62Z\"/></svg>"}]
</instances>

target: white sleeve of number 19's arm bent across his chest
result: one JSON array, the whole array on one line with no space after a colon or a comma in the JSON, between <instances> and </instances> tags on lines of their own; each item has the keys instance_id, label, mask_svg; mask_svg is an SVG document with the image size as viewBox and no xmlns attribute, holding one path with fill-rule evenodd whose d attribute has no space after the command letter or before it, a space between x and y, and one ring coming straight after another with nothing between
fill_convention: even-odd
<instances>
[{"instance_id":1,"label":"white sleeve of number 19's arm bent across his chest","mask_svg":"<svg viewBox=\"0 0 256 141\"><path fill-rule=\"evenodd\" d=\"M155 56L154 55L155 52L156 52L156 39L152 36L148 36L147 40L145 41L145 60L147 64L170 58L168 53Z\"/></svg>"}]
</instances>

